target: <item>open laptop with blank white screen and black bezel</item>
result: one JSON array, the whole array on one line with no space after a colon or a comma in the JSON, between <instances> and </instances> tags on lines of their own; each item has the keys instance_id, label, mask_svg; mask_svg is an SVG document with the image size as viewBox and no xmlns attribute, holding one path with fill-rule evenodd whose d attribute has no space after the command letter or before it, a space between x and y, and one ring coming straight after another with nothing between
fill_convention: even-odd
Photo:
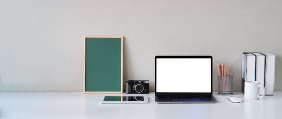
<instances>
[{"instance_id":1,"label":"open laptop with blank white screen and black bezel","mask_svg":"<svg viewBox=\"0 0 282 119\"><path fill-rule=\"evenodd\" d=\"M156 103L217 103L212 56L156 56Z\"/></svg>"}]
</instances>

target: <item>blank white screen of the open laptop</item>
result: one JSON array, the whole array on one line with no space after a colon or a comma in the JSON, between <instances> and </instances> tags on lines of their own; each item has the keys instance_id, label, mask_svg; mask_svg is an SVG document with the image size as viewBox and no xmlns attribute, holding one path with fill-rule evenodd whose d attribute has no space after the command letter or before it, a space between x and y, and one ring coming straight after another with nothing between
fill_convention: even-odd
<instances>
[{"instance_id":1,"label":"blank white screen of the open laptop","mask_svg":"<svg viewBox=\"0 0 282 119\"><path fill-rule=\"evenodd\" d=\"M156 59L157 93L211 93L211 59Z\"/></svg>"}]
</instances>

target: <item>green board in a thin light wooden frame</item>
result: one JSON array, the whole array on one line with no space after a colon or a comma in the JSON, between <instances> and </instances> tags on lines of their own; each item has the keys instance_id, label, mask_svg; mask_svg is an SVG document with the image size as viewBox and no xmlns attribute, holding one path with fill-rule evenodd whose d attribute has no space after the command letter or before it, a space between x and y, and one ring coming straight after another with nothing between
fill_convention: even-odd
<instances>
[{"instance_id":1,"label":"green board in a thin light wooden frame","mask_svg":"<svg viewBox=\"0 0 282 119\"><path fill-rule=\"evenodd\" d=\"M122 93L123 37L84 37L84 93Z\"/></svg>"}]
</instances>

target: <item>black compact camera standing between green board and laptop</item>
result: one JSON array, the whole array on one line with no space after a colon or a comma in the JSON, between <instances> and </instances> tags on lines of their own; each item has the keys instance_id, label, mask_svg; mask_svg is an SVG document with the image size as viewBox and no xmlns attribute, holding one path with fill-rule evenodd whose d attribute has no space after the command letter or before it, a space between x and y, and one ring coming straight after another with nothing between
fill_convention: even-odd
<instances>
[{"instance_id":1,"label":"black compact camera standing between green board and laptop","mask_svg":"<svg viewBox=\"0 0 282 119\"><path fill-rule=\"evenodd\" d=\"M126 93L149 93L149 80L128 80Z\"/></svg>"}]
</instances>

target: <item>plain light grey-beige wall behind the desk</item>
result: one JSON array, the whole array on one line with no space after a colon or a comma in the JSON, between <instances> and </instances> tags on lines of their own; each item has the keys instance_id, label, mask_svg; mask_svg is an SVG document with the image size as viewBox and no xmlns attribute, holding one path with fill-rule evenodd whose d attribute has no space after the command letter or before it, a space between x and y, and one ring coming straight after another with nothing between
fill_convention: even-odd
<instances>
[{"instance_id":1,"label":"plain light grey-beige wall behind the desk","mask_svg":"<svg viewBox=\"0 0 282 119\"><path fill-rule=\"evenodd\" d=\"M229 62L241 91L241 53L276 57L282 91L282 0L0 0L0 91L83 91L83 37L124 36L124 83L150 80L156 55Z\"/></svg>"}]
</instances>

